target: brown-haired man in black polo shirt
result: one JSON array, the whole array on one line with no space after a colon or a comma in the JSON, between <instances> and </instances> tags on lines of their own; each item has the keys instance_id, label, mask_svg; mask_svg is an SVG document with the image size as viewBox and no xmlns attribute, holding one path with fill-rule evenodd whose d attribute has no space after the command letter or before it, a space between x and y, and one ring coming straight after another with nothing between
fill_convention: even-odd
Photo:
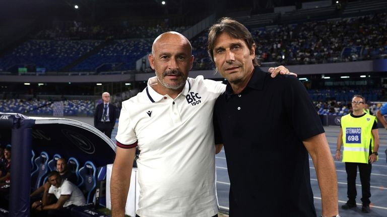
<instances>
[{"instance_id":1,"label":"brown-haired man in black polo shirt","mask_svg":"<svg viewBox=\"0 0 387 217\"><path fill-rule=\"evenodd\" d=\"M308 153L322 198L322 216L338 214L337 177L324 128L303 85L270 79L240 23L210 28L208 51L229 84L216 101L215 141L223 143L230 177L230 216L316 216Z\"/></svg>"}]
</instances>

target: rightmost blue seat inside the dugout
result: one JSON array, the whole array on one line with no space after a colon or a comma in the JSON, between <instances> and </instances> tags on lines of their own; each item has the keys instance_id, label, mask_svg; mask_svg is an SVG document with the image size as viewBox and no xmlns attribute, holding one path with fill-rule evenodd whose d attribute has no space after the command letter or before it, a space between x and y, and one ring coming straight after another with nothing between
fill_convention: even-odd
<instances>
[{"instance_id":1,"label":"rightmost blue seat inside the dugout","mask_svg":"<svg viewBox=\"0 0 387 217\"><path fill-rule=\"evenodd\" d=\"M93 202L94 199L94 191L97 185L96 173L97 168L91 161L86 161L85 165L79 169L81 183L78 187L84 192L87 203Z\"/></svg>"}]
</instances>

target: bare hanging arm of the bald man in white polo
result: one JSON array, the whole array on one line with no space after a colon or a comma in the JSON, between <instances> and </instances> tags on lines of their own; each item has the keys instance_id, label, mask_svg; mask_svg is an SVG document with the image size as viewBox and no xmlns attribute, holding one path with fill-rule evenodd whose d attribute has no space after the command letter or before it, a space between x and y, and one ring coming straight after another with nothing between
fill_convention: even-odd
<instances>
[{"instance_id":1,"label":"bare hanging arm of the bald man in white polo","mask_svg":"<svg viewBox=\"0 0 387 217\"><path fill-rule=\"evenodd\" d=\"M131 183L136 148L117 147L110 178L111 216L125 215L127 193Z\"/></svg>"}]
</instances>

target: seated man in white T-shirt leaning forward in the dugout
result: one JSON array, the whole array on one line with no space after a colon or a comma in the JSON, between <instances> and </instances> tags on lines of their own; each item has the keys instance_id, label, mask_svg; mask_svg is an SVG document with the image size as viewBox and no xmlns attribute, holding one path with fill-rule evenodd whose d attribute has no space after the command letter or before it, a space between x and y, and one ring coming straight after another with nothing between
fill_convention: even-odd
<instances>
[{"instance_id":1,"label":"seated man in white T-shirt leaning forward in the dugout","mask_svg":"<svg viewBox=\"0 0 387 217\"><path fill-rule=\"evenodd\" d=\"M57 201L53 202L56 197ZM72 182L62 179L58 171L48 174L44 184L43 198L32 204L33 216L71 216L73 206L86 204L82 191Z\"/></svg>"}]
</instances>

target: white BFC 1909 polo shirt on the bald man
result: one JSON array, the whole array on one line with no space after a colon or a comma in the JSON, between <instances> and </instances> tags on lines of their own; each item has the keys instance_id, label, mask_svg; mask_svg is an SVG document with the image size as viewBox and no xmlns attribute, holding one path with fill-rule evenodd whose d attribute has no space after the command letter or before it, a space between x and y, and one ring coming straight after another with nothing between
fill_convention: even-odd
<instances>
[{"instance_id":1,"label":"white BFC 1909 polo shirt on the bald man","mask_svg":"<svg viewBox=\"0 0 387 217\"><path fill-rule=\"evenodd\" d=\"M141 217L203 216L218 213L212 115L226 86L188 78L172 99L147 88L122 103L117 146L141 151L138 166Z\"/></svg>"}]
</instances>

